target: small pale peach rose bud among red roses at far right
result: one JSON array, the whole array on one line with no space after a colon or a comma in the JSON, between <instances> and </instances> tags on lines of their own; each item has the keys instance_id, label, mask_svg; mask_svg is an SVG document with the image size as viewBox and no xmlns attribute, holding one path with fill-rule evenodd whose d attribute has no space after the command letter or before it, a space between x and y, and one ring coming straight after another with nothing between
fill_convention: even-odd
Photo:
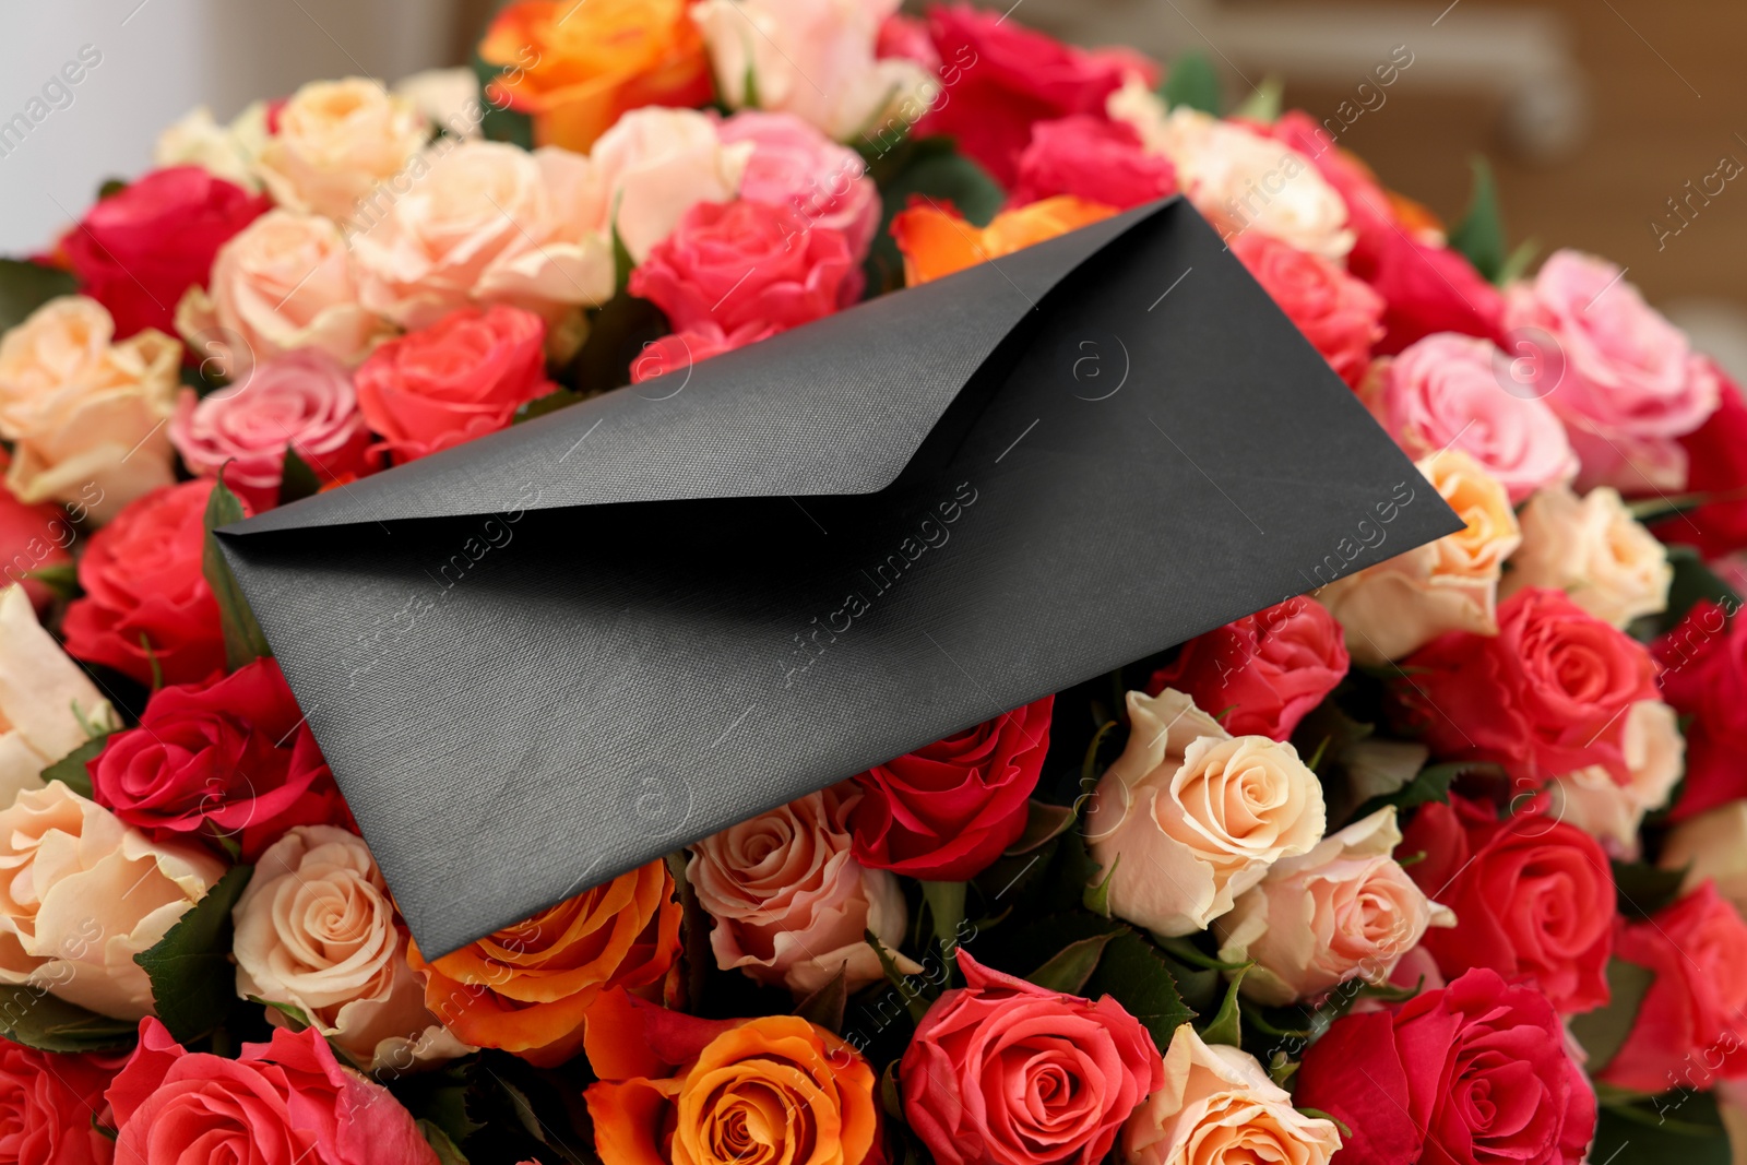
<instances>
[{"instance_id":1,"label":"small pale peach rose bud among red roses at far right","mask_svg":"<svg viewBox=\"0 0 1747 1165\"><path fill-rule=\"evenodd\" d=\"M1621 748L1630 774L1625 784L1592 765L1558 777L1548 791L1555 819L1593 835L1614 858L1635 859L1644 814L1668 803L1686 770L1686 737L1672 707L1639 700L1626 711Z\"/></svg>"}]
</instances>

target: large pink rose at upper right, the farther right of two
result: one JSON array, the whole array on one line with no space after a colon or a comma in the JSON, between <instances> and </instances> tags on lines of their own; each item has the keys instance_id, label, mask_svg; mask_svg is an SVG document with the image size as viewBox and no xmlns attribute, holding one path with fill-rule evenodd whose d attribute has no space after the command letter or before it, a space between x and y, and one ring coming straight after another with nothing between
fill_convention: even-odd
<instances>
[{"instance_id":1,"label":"large pink rose at upper right, the farther right of two","mask_svg":"<svg viewBox=\"0 0 1747 1165\"><path fill-rule=\"evenodd\" d=\"M1534 388L1571 430L1585 489L1684 489L1675 438L1716 410L1717 377L1621 274L1602 259L1555 252L1534 281L1506 292L1504 323L1550 348Z\"/></svg>"}]
</instances>

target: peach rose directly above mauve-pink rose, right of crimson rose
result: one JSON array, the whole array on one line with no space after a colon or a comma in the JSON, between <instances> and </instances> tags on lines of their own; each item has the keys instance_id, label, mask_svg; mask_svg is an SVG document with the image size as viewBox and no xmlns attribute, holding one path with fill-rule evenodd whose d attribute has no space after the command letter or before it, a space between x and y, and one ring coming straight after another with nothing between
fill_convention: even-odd
<instances>
[{"instance_id":1,"label":"peach rose directly above mauve-pink rose, right of crimson rose","mask_svg":"<svg viewBox=\"0 0 1747 1165\"><path fill-rule=\"evenodd\" d=\"M208 283L182 295L176 330L232 381L293 348L355 365L391 332L358 302L346 239L321 215L267 211L218 248Z\"/></svg>"}]
</instances>

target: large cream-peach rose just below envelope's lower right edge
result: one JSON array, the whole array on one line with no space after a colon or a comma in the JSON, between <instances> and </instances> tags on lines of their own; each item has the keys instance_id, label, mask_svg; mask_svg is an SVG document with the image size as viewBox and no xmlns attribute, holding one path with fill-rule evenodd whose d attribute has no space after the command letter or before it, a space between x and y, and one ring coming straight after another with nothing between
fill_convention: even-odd
<instances>
[{"instance_id":1,"label":"large cream-peach rose just below envelope's lower right edge","mask_svg":"<svg viewBox=\"0 0 1747 1165\"><path fill-rule=\"evenodd\" d=\"M1129 693L1129 746L1087 814L1111 912L1193 934L1322 838L1322 786L1291 744L1233 737L1190 697Z\"/></svg>"}]
</instances>

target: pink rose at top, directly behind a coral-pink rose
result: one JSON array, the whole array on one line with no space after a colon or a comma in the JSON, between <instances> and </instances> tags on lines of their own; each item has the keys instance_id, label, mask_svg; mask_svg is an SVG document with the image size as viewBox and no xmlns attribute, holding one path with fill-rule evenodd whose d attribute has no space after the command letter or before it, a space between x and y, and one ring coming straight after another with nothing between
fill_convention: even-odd
<instances>
[{"instance_id":1,"label":"pink rose at top, directly behind a coral-pink rose","mask_svg":"<svg viewBox=\"0 0 1747 1165\"><path fill-rule=\"evenodd\" d=\"M867 259L879 229L879 189L867 162L793 114L748 110L722 122L723 145L751 141L741 175L741 197L781 206L791 234L812 227L840 231L856 262Z\"/></svg>"}]
</instances>

